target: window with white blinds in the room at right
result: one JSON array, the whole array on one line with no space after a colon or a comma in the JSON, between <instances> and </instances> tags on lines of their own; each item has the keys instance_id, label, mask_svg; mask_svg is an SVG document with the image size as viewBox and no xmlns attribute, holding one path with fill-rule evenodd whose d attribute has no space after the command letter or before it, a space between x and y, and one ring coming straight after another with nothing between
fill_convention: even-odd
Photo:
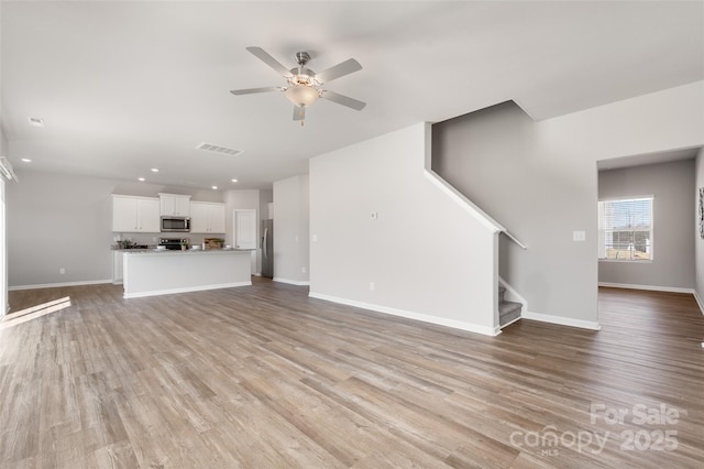
<instances>
[{"instance_id":1,"label":"window with white blinds in the room at right","mask_svg":"<svg viewBox=\"0 0 704 469\"><path fill-rule=\"evenodd\" d=\"M652 260L652 196L598 203L598 258Z\"/></svg>"}]
</instances>

